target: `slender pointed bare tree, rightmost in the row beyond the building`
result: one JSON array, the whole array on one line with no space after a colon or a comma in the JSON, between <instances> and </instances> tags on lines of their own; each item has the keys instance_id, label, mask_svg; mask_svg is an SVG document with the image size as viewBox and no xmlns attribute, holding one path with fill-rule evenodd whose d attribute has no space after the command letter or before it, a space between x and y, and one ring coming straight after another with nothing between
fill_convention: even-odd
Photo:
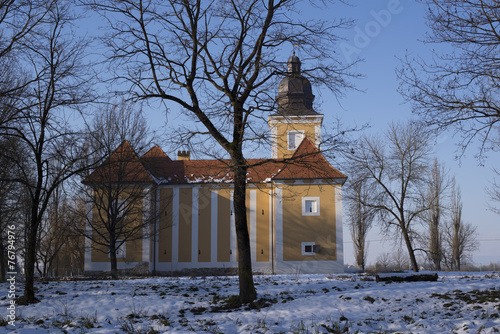
<instances>
[{"instance_id":1,"label":"slender pointed bare tree, rightmost in the row beyond the building","mask_svg":"<svg viewBox=\"0 0 500 334\"><path fill-rule=\"evenodd\" d=\"M462 199L460 187L452 179L450 220L445 227L446 262L451 270L460 270L465 259L478 248L477 228L462 220Z\"/></svg>"}]
</instances>

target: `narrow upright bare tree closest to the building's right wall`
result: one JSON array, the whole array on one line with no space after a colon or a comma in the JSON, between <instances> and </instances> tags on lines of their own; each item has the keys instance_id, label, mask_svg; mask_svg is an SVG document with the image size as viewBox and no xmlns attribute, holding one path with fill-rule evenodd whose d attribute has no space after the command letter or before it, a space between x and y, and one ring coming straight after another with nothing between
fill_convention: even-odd
<instances>
[{"instance_id":1,"label":"narrow upright bare tree closest to the building's right wall","mask_svg":"<svg viewBox=\"0 0 500 334\"><path fill-rule=\"evenodd\" d=\"M367 202L370 194L367 193L362 180L348 187L344 198L347 201L347 221L351 228L351 237L354 244L354 257L359 269L365 270L368 245L366 237L372 226L374 211L363 203Z\"/></svg>"}]
</instances>

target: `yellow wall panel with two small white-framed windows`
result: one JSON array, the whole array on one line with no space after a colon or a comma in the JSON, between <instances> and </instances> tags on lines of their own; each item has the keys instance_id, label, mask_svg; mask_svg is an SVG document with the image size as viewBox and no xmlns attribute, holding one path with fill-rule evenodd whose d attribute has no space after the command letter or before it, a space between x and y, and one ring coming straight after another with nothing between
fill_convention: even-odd
<instances>
[{"instance_id":1,"label":"yellow wall panel with two small white-framed windows","mask_svg":"<svg viewBox=\"0 0 500 334\"><path fill-rule=\"evenodd\" d=\"M302 197L320 198L319 216L302 216ZM283 260L337 260L334 203L333 185L283 186ZM320 245L320 253L302 255L302 242L315 242Z\"/></svg>"}]
</instances>

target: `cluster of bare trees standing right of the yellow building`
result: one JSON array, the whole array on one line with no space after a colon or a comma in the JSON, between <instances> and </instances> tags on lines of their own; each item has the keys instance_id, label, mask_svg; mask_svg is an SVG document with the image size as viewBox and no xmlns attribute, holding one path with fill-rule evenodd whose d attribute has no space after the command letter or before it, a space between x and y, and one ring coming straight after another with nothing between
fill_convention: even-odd
<instances>
[{"instance_id":1,"label":"cluster of bare trees standing right of the yellow building","mask_svg":"<svg viewBox=\"0 0 500 334\"><path fill-rule=\"evenodd\" d=\"M437 158L432 133L420 122L392 124L385 136L363 136L346 156L351 175L344 198L356 264L365 269L373 222L395 242L398 267L418 271L418 253L433 269L460 270L478 248L476 227L462 219L460 187ZM409 265L401 266L400 245ZM422 257L421 256L421 257Z\"/></svg>"}]
</instances>

